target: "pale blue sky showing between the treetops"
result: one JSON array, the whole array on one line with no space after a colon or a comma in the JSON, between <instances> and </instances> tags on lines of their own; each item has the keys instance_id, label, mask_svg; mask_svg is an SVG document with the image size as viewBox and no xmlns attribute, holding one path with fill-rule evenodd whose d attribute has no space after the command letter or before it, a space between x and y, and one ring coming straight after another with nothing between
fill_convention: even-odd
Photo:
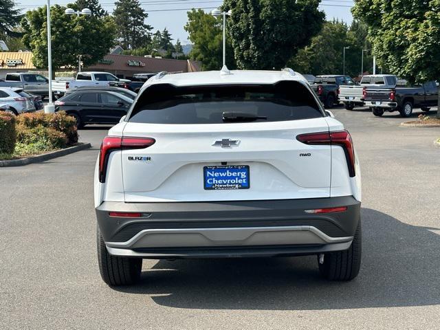
<instances>
[{"instance_id":1,"label":"pale blue sky showing between the treetops","mask_svg":"<svg viewBox=\"0 0 440 330\"><path fill-rule=\"evenodd\" d=\"M100 0L102 8L108 12L112 12L115 0ZM190 43L188 34L184 30L187 21L186 12L190 8L206 8L210 11L217 8L223 1L221 0L139 0L142 8L148 12L147 23L153 26L153 32L156 30L164 30L166 28L172 35L174 41L180 39L182 45ZM51 0L51 5L65 5L72 3L74 0ZM45 5L45 0L16 0L17 8L23 10L32 10L36 7ZM350 8L353 0L322 0L320 9L324 10L328 20L333 18L351 23ZM183 10L182 10L183 9Z\"/></svg>"}]
</instances>

